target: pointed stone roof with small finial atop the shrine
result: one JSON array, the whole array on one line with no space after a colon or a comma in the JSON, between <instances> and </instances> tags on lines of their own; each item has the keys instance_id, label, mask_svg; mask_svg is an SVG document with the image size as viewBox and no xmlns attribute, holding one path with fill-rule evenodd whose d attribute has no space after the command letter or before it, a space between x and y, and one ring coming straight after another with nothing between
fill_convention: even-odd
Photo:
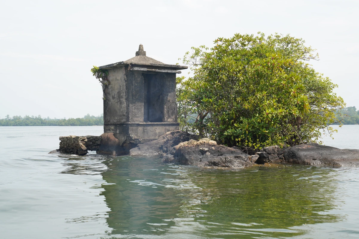
<instances>
[{"instance_id":1,"label":"pointed stone roof with small finial atop the shrine","mask_svg":"<svg viewBox=\"0 0 359 239\"><path fill-rule=\"evenodd\" d=\"M152 66L152 67L160 67L160 68L170 68L173 70L183 70L187 69L187 66L180 66L180 65L170 65L165 64L163 62L157 61L151 57L146 56L146 52L143 50L143 45L140 44L138 51L136 51L136 56L132 57L126 61L120 61L113 64L108 64L105 66L100 66L100 69L111 69L115 67L120 67L123 65L136 65L136 66Z\"/></svg>"}]
</instances>

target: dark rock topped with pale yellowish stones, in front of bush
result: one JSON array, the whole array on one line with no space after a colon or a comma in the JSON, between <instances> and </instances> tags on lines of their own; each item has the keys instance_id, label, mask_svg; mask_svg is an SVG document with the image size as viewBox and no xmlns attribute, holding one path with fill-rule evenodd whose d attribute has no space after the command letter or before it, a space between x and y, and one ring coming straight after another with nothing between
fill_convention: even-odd
<instances>
[{"instance_id":1,"label":"dark rock topped with pale yellowish stones, in front of bush","mask_svg":"<svg viewBox=\"0 0 359 239\"><path fill-rule=\"evenodd\" d=\"M163 162L192 164L200 167L244 168L252 166L249 155L208 138L189 140L174 147L174 155L167 154Z\"/></svg>"}]
</instances>

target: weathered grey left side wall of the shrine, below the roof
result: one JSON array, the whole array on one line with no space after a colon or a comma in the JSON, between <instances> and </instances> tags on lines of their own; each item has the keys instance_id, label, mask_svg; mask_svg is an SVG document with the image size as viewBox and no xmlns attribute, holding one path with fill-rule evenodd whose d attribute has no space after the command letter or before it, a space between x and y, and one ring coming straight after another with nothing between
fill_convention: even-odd
<instances>
[{"instance_id":1,"label":"weathered grey left side wall of the shrine, below the roof","mask_svg":"<svg viewBox=\"0 0 359 239\"><path fill-rule=\"evenodd\" d=\"M111 83L105 88L103 120L104 122L126 122L128 111L125 67L110 69L108 80Z\"/></svg>"}]
</instances>

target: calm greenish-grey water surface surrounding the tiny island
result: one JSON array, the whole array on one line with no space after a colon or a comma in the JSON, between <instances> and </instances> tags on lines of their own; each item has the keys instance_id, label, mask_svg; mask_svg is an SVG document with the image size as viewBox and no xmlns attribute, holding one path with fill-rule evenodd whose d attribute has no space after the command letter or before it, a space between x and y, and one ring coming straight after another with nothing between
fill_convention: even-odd
<instances>
[{"instance_id":1,"label":"calm greenish-grey water surface surrounding the tiny island","mask_svg":"<svg viewBox=\"0 0 359 239\"><path fill-rule=\"evenodd\" d=\"M48 154L102 126L0 127L0 238L359 238L359 169ZM326 145L359 149L359 125Z\"/></svg>"}]
</instances>

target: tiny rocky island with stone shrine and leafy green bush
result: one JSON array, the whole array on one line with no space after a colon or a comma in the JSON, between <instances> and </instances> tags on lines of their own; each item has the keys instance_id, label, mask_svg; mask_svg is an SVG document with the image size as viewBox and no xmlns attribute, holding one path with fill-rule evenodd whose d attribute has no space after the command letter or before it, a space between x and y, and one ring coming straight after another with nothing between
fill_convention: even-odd
<instances>
[{"instance_id":1,"label":"tiny rocky island with stone shrine and leafy green bush","mask_svg":"<svg viewBox=\"0 0 359 239\"><path fill-rule=\"evenodd\" d=\"M163 163L244 168L297 163L359 166L359 150L317 142L341 124L344 102L328 78L307 63L316 59L289 35L236 34L211 49L192 48L187 66L146 56L91 69L103 89L104 133L61 136L50 153L83 156L157 156Z\"/></svg>"}]
</instances>

